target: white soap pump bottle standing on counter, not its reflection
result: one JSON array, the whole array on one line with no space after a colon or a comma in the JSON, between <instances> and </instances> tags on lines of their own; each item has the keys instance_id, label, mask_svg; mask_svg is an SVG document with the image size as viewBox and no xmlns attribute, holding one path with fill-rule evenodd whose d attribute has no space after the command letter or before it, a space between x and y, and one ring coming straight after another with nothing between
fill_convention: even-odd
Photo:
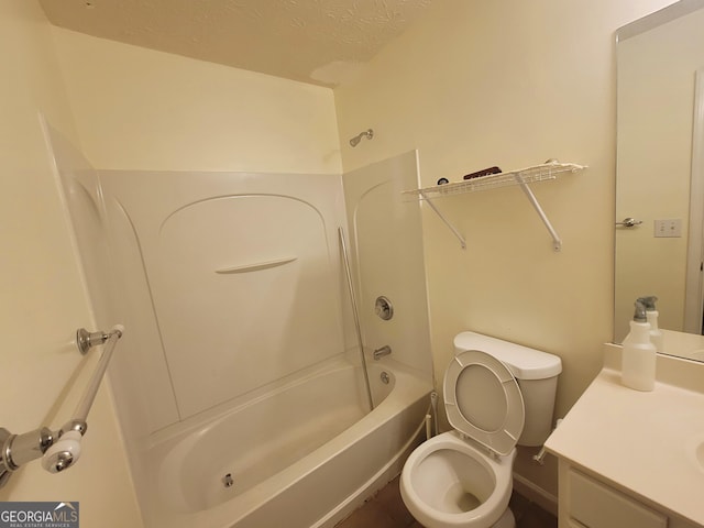
<instances>
[{"instance_id":1,"label":"white soap pump bottle standing on counter, not its reflection","mask_svg":"<svg viewBox=\"0 0 704 528\"><path fill-rule=\"evenodd\" d=\"M623 342L622 383L636 391L652 391L656 386L656 346L650 341L646 306L640 299L635 305L630 332Z\"/></svg>"}]
</instances>

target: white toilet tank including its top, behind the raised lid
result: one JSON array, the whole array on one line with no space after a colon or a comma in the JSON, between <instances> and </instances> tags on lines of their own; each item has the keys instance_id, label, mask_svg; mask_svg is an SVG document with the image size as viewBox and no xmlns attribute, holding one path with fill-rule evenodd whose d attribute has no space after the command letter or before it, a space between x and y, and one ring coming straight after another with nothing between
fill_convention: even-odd
<instances>
[{"instance_id":1,"label":"white toilet tank including its top, behind the raised lid","mask_svg":"<svg viewBox=\"0 0 704 528\"><path fill-rule=\"evenodd\" d=\"M504 363L518 382L526 408L519 446L542 446L552 430L552 413L562 372L559 356L474 332L454 338L454 353L479 350Z\"/></svg>"}]
</instances>

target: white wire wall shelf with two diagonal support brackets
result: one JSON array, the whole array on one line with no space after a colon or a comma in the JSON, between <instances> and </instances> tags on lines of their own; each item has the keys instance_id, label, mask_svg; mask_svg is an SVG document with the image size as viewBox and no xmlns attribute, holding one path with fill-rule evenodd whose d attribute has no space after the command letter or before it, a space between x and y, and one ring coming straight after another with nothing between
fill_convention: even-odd
<instances>
[{"instance_id":1,"label":"white wire wall shelf with two diagonal support brackets","mask_svg":"<svg viewBox=\"0 0 704 528\"><path fill-rule=\"evenodd\" d=\"M425 204L430 206L436 215L440 217L440 220L442 220L444 224L458 238L460 244L462 245L462 249L466 249L464 237L462 237L460 232L454 228L454 226L452 226L452 223L448 221L448 219L432 202L432 199L453 195L463 195L466 193L476 193L481 190L497 189L501 187L519 186L540 217L540 220L542 220L542 223L544 223L550 233L550 237L552 237L553 249L556 251L560 251L560 249L562 248L562 240L553 229L550 220L548 220L548 217L542 210L542 207L540 207L540 204L538 202L536 196L532 194L532 190L530 189L530 187L528 187L528 184L557 179L560 175L578 173L580 170L584 170L585 168L587 168L585 165L578 165L574 163L560 163L558 161L550 160L543 164L520 168L518 170L490 174L487 176L479 176L476 178L464 179L462 182L455 182L452 184L437 185L435 187L425 187L422 189L404 190L402 194L406 196L414 196L421 200L425 200Z\"/></svg>"}]
</instances>

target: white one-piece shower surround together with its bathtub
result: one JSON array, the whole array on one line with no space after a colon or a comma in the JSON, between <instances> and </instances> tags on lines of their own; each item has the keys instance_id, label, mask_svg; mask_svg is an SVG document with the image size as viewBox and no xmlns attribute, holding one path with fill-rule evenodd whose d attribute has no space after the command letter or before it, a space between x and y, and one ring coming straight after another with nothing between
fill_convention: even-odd
<instances>
[{"instance_id":1,"label":"white one-piece shower surround together with its bathtub","mask_svg":"<svg viewBox=\"0 0 704 528\"><path fill-rule=\"evenodd\" d=\"M147 527L331 527L400 472L432 389L415 152L97 170L48 135L98 322L130 328L109 375Z\"/></svg>"}]
</instances>

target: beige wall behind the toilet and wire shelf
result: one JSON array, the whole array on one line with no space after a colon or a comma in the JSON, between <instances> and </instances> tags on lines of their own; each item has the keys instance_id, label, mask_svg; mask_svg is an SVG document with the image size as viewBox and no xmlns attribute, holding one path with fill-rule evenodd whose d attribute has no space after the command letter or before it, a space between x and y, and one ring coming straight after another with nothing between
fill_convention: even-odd
<instances>
[{"instance_id":1,"label":"beige wall behind the toilet and wire shelf","mask_svg":"<svg viewBox=\"0 0 704 528\"><path fill-rule=\"evenodd\" d=\"M590 166L534 186L563 240L559 253L518 188L436 200L466 251L425 208L439 382L464 329L560 355L558 416L598 371L613 331L614 32L669 3L443 0L336 89L344 172L410 148L424 186L551 157ZM367 128L374 140L350 148L346 139Z\"/></svg>"}]
</instances>

